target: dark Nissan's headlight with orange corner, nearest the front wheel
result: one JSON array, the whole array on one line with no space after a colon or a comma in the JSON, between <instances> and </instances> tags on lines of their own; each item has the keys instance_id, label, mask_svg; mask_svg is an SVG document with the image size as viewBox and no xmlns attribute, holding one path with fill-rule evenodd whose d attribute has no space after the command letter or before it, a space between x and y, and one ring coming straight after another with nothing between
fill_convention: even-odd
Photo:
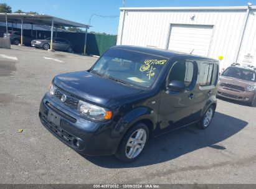
<instances>
[{"instance_id":1,"label":"dark Nissan's headlight with orange corner, nearest the front wheel","mask_svg":"<svg viewBox=\"0 0 256 189\"><path fill-rule=\"evenodd\" d=\"M79 101L77 110L83 116L87 116L90 119L103 121L112 118L112 112L108 109L102 108L100 106L95 106L93 104L85 103L84 101Z\"/></svg>"}]
</instances>

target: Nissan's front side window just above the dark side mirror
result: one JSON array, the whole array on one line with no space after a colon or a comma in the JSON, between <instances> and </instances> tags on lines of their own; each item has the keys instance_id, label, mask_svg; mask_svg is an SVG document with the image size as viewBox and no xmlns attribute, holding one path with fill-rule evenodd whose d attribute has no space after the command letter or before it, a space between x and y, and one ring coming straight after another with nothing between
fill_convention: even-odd
<instances>
[{"instance_id":1,"label":"Nissan's front side window just above the dark side mirror","mask_svg":"<svg viewBox=\"0 0 256 189\"><path fill-rule=\"evenodd\" d=\"M182 60L174 63L169 73L169 82L178 80L185 83L186 86L191 84L194 75L194 64L190 61Z\"/></svg>"}]
</instances>

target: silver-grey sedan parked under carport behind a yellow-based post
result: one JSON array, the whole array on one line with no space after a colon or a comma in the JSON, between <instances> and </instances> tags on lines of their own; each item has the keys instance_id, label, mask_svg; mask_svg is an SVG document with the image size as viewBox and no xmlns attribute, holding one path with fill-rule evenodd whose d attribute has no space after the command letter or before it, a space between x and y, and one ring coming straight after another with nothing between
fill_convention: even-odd
<instances>
[{"instance_id":1,"label":"silver-grey sedan parked under carport behind a yellow-based post","mask_svg":"<svg viewBox=\"0 0 256 189\"><path fill-rule=\"evenodd\" d=\"M31 46L36 48L50 49L50 37L43 40L32 40ZM54 50L63 50L69 53L73 52L73 45L66 39L54 37L52 40L52 48Z\"/></svg>"}]
</instances>

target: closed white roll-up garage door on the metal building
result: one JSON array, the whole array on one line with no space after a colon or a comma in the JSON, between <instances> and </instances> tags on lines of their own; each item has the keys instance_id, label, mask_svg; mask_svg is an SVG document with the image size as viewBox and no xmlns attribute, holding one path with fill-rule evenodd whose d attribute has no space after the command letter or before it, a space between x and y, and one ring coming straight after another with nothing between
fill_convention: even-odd
<instances>
[{"instance_id":1,"label":"closed white roll-up garage door on the metal building","mask_svg":"<svg viewBox=\"0 0 256 189\"><path fill-rule=\"evenodd\" d=\"M168 49L207 57L212 31L213 25L171 24Z\"/></svg>"}]
</instances>

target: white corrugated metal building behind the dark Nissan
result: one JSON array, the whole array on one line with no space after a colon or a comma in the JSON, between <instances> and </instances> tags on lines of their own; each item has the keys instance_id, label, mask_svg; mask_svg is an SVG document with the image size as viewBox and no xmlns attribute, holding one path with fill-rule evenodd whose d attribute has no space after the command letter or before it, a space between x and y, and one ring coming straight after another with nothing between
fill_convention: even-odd
<instances>
[{"instance_id":1,"label":"white corrugated metal building behind the dark Nissan","mask_svg":"<svg viewBox=\"0 0 256 189\"><path fill-rule=\"evenodd\" d=\"M122 7L117 45L138 45L256 66L256 7Z\"/></svg>"}]
</instances>

